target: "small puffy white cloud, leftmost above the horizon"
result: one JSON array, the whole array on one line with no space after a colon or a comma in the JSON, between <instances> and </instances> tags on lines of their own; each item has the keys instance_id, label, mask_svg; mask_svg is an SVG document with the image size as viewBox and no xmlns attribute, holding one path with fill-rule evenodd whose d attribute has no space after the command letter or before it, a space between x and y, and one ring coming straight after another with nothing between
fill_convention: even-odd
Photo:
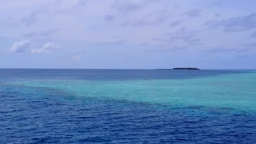
<instances>
[{"instance_id":1,"label":"small puffy white cloud, leftmost above the horizon","mask_svg":"<svg viewBox=\"0 0 256 144\"><path fill-rule=\"evenodd\" d=\"M26 50L31 46L31 44L32 43L29 40L15 42L13 46L9 49L9 51L14 53L26 52Z\"/></svg>"}]
</instances>

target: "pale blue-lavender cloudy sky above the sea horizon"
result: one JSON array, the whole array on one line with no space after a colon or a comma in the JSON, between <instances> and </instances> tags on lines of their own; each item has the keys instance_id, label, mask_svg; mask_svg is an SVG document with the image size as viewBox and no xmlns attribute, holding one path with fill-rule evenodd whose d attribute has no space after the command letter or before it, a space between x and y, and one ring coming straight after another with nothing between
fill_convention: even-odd
<instances>
[{"instance_id":1,"label":"pale blue-lavender cloudy sky above the sea horizon","mask_svg":"<svg viewBox=\"0 0 256 144\"><path fill-rule=\"evenodd\" d=\"M0 3L0 68L256 69L256 0Z\"/></svg>"}]
</instances>

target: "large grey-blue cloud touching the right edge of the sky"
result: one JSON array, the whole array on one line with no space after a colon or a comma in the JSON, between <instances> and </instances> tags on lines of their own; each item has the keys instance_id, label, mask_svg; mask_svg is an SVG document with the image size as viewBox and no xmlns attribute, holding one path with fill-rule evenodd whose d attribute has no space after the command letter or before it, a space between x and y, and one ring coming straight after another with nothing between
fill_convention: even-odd
<instances>
[{"instance_id":1,"label":"large grey-blue cloud touching the right edge of the sky","mask_svg":"<svg viewBox=\"0 0 256 144\"><path fill-rule=\"evenodd\" d=\"M209 20L203 25L209 26L210 28L222 26L226 32L245 31L256 28L256 13L231 17L228 20Z\"/></svg>"}]
</instances>

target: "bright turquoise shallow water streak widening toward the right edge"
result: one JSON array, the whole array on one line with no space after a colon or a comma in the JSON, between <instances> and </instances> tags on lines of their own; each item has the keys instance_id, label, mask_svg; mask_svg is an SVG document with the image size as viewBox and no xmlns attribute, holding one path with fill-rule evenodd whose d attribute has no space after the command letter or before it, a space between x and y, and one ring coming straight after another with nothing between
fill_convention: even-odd
<instances>
[{"instance_id":1,"label":"bright turquoise shallow water streak widening toward the right edge","mask_svg":"<svg viewBox=\"0 0 256 144\"><path fill-rule=\"evenodd\" d=\"M173 107L204 106L256 110L256 72L191 79L20 80L13 84L56 88L75 96Z\"/></svg>"}]
</instances>

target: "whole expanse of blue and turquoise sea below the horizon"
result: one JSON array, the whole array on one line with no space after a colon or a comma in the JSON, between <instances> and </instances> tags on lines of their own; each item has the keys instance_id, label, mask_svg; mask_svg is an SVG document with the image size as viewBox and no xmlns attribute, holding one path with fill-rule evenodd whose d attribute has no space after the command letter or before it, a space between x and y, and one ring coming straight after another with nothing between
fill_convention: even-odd
<instances>
[{"instance_id":1,"label":"whole expanse of blue and turquoise sea below the horizon","mask_svg":"<svg viewBox=\"0 0 256 144\"><path fill-rule=\"evenodd\" d=\"M256 144L256 71L0 69L1 144Z\"/></svg>"}]
</instances>

